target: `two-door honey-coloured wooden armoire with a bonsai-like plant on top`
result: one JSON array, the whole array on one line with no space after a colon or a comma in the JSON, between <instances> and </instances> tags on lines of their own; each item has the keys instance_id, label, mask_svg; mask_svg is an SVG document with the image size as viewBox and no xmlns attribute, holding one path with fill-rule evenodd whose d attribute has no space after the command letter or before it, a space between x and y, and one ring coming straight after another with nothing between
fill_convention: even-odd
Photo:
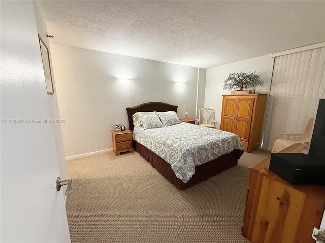
<instances>
[{"instance_id":1,"label":"two-door honey-coloured wooden armoire with a bonsai-like plant on top","mask_svg":"<svg viewBox=\"0 0 325 243\"><path fill-rule=\"evenodd\" d=\"M220 129L235 133L245 152L258 149L261 139L266 94L222 95Z\"/></svg>"}]
</instances>

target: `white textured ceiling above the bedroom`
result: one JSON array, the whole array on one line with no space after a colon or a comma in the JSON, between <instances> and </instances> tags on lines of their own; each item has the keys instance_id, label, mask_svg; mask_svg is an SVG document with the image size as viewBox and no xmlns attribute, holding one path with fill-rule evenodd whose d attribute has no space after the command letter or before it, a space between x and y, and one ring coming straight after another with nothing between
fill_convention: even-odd
<instances>
[{"instance_id":1,"label":"white textured ceiling above the bedroom","mask_svg":"<svg viewBox=\"0 0 325 243\"><path fill-rule=\"evenodd\" d=\"M325 41L325 1L39 1L50 42L209 68Z\"/></svg>"}]
</instances>

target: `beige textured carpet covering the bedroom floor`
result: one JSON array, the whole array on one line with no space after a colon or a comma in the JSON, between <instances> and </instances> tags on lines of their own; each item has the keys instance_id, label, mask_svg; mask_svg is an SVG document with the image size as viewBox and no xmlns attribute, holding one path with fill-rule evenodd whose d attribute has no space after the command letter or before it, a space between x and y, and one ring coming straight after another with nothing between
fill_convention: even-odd
<instances>
[{"instance_id":1,"label":"beige textured carpet covering the bedroom floor","mask_svg":"<svg viewBox=\"0 0 325 243\"><path fill-rule=\"evenodd\" d=\"M244 153L234 168L183 191L137 152L69 160L71 241L249 242L240 229L247 168L269 155Z\"/></svg>"}]
</instances>

